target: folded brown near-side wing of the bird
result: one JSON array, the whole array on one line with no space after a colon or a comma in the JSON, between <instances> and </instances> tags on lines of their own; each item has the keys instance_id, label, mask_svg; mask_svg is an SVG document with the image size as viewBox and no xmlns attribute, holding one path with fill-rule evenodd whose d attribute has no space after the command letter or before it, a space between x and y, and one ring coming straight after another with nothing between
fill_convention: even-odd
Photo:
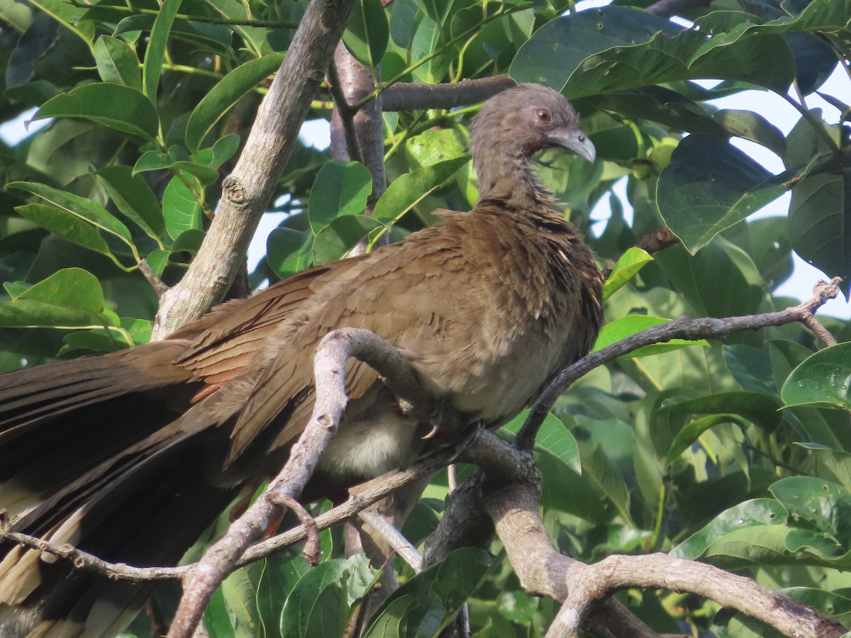
<instances>
[{"instance_id":1,"label":"folded brown near-side wing of the bird","mask_svg":"<svg viewBox=\"0 0 851 638\"><path fill-rule=\"evenodd\" d=\"M420 231L403 246L393 245L373 253L360 268L337 278L307 305L306 322L281 341L270 343L274 356L254 374L246 401L243 397L231 434L230 459L238 458L266 426L279 415L283 430L272 447L291 442L304 429L313 408L313 356L325 334L337 328L364 328L395 345L416 363L420 347L443 339L447 317L444 277L460 299L471 284L475 269L454 267L465 260L460 243L441 227ZM454 305L458 314L458 305ZM463 310L463 309L462 309ZM275 338L273 338L275 339ZM362 396L377 379L375 371L351 361L346 370L350 400Z\"/></svg>"}]
</instances>

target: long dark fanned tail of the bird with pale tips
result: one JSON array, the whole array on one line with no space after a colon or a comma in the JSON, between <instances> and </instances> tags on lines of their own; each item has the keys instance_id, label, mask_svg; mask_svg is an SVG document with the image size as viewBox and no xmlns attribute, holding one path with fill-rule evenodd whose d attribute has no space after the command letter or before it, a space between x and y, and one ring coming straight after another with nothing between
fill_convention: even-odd
<instances>
[{"instance_id":1,"label":"long dark fanned tail of the bird with pale tips","mask_svg":"<svg viewBox=\"0 0 851 638\"><path fill-rule=\"evenodd\" d=\"M226 508L208 481L215 429L171 432L201 385L165 341L0 376L0 509L14 531L106 561L168 565ZM214 454L215 455L215 454ZM0 543L0 636L109 636L151 584Z\"/></svg>"}]
</instances>

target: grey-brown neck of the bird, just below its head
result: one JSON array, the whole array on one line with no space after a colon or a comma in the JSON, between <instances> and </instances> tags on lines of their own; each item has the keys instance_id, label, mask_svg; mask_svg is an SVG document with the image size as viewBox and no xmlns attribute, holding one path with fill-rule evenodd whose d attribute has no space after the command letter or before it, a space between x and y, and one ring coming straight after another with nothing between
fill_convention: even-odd
<instances>
[{"instance_id":1,"label":"grey-brown neck of the bird, just below its head","mask_svg":"<svg viewBox=\"0 0 851 638\"><path fill-rule=\"evenodd\" d=\"M528 157L505 154L502 157L484 157L476 162L479 201L506 199L523 207L551 205L550 191L541 184L538 175L529 166Z\"/></svg>"}]
</instances>

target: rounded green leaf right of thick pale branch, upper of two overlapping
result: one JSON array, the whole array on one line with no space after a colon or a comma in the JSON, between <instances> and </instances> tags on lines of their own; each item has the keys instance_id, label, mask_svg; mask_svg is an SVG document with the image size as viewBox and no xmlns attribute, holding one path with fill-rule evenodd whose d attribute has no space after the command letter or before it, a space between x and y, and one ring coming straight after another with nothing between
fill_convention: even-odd
<instances>
[{"instance_id":1,"label":"rounded green leaf right of thick pale branch, upper of two overlapping","mask_svg":"<svg viewBox=\"0 0 851 638\"><path fill-rule=\"evenodd\" d=\"M318 235L334 219L362 214L371 192L372 175L362 163L331 160L324 164L307 202L313 234Z\"/></svg>"}]
</instances>

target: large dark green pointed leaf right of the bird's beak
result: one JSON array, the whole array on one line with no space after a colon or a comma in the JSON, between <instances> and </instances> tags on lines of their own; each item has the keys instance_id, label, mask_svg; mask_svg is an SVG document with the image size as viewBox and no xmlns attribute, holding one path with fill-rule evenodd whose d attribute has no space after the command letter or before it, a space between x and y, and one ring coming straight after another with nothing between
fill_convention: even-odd
<instances>
[{"instance_id":1,"label":"large dark green pointed leaf right of the bird's beak","mask_svg":"<svg viewBox=\"0 0 851 638\"><path fill-rule=\"evenodd\" d=\"M694 254L785 191L780 179L727 141L692 134L662 171L656 200L665 225Z\"/></svg>"}]
</instances>

